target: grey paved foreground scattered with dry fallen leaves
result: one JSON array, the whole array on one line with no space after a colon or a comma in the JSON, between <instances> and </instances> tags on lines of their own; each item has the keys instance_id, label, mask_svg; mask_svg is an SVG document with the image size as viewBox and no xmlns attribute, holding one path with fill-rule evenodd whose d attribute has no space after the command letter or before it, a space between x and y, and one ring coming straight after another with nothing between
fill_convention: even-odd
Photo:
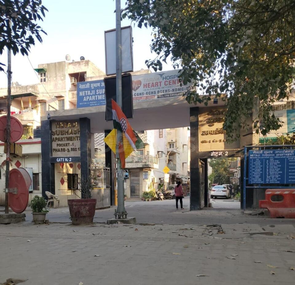
<instances>
[{"instance_id":1,"label":"grey paved foreground scattered with dry fallen leaves","mask_svg":"<svg viewBox=\"0 0 295 285\"><path fill-rule=\"evenodd\" d=\"M291 225L0 225L0 283L294 284L292 235Z\"/></svg>"}]
</instances>

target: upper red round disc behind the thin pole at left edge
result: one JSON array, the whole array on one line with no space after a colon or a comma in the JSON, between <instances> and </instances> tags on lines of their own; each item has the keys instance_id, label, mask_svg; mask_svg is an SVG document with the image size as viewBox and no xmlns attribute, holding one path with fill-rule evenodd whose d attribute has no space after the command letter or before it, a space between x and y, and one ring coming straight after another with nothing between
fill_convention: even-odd
<instances>
[{"instance_id":1,"label":"upper red round disc behind the thin pole at left edge","mask_svg":"<svg viewBox=\"0 0 295 285\"><path fill-rule=\"evenodd\" d=\"M7 116L0 117L0 140L6 141L6 125L7 125ZM10 142L18 141L24 132L24 127L22 123L14 118L10 117Z\"/></svg>"}]
</instances>

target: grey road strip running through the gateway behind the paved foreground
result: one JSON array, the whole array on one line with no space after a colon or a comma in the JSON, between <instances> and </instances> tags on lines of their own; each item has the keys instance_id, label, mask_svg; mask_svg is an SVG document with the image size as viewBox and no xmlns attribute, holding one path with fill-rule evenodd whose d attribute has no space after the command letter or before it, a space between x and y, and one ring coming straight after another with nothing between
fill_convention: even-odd
<instances>
[{"instance_id":1,"label":"grey road strip running through the gateway behind the paved foreground","mask_svg":"<svg viewBox=\"0 0 295 285\"><path fill-rule=\"evenodd\" d=\"M136 217L138 223L166 223L166 224L237 224L251 223L261 226L271 224L292 224L291 219L270 219L263 216L244 215L239 209L238 202L229 200L211 200L213 208L204 208L200 211L190 211L190 197L183 199L184 210L176 210L175 200L151 201L151 202L125 202L128 217ZM94 221L106 222L114 218L115 207L104 210L96 210ZM52 209L46 215L50 222L70 222L69 209ZM32 221L32 214L26 212L26 221Z\"/></svg>"}]
</instances>

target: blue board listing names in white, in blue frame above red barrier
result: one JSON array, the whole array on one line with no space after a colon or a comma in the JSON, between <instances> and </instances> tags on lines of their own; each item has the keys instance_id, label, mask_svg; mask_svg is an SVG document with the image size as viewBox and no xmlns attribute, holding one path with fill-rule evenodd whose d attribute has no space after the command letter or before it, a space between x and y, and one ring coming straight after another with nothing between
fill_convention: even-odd
<instances>
[{"instance_id":1,"label":"blue board listing names in white, in blue frame above red barrier","mask_svg":"<svg viewBox=\"0 0 295 285\"><path fill-rule=\"evenodd\" d=\"M295 150L249 150L249 184L295 184Z\"/></svg>"}]
</instances>

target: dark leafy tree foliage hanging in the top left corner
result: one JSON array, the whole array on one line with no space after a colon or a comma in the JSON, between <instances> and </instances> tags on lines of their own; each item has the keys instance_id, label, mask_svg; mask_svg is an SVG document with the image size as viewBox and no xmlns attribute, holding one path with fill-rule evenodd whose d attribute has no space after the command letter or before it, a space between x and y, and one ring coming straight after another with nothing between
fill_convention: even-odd
<instances>
[{"instance_id":1,"label":"dark leafy tree foliage hanging in the top left corner","mask_svg":"<svg viewBox=\"0 0 295 285\"><path fill-rule=\"evenodd\" d=\"M0 0L0 55L4 48L14 55L21 52L28 55L36 38L42 43L41 33L47 35L38 25L48 11L41 0ZM0 62L0 71L4 71Z\"/></svg>"}]
</instances>

